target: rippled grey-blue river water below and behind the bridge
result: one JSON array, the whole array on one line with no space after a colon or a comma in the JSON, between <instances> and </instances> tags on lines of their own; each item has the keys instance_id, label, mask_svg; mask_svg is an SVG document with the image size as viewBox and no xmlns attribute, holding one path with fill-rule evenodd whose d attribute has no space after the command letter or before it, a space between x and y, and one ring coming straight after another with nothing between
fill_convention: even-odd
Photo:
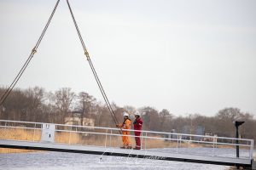
<instances>
[{"instance_id":1,"label":"rippled grey-blue river water below and behind the bridge","mask_svg":"<svg viewBox=\"0 0 256 170\"><path fill-rule=\"evenodd\" d=\"M202 150L202 149L194 149ZM211 150L203 149L206 153ZM220 153L223 152L223 153ZM222 150L219 154L233 155L234 150ZM0 154L0 169L10 170L73 170L73 169L229 169L226 166L187 163L178 161L160 161L117 156L96 156L61 152L36 152L18 154Z\"/></svg>"}]
</instances>

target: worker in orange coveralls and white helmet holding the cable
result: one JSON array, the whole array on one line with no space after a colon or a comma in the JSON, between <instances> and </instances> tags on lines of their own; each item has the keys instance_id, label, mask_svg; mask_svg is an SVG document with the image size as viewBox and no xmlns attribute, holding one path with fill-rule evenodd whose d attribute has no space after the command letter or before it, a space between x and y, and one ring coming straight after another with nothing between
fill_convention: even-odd
<instances>
[{"instance_id":1,"label":"worker in orange coveralls and white helmet holding the cable","mask_svg":"<svg viewBox=\"0 0 256 170\"><path fill-rule=\"evenodd\" d=\"M123 140L123 146L121 147L122 149L131 149L131 140L129 136L125 135L130 135L130 131L126 131L125 129L131 129L131 120L129 119L129 114L126 112L123 112L124 115L124 122L120 123L119 125L116 125L117 127L122 128L122 133L124 136L122 136Z\"/></svg>"}]
</instances>

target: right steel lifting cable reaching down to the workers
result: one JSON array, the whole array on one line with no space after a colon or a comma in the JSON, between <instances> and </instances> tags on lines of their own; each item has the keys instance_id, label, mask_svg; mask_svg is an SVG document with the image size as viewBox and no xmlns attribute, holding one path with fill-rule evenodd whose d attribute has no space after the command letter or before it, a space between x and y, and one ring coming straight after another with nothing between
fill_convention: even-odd
<instances>
[{"instance_id":1,"label":"right steel lifting cable reaching down to the workers","mask_svg":"<svg viewBox=\"0 0 256 170\"><path fill-rule=\"evenodd\" d=\"M72 19L73 19L74 26L76 27L76 30L77 30L77 32L78 32L78 34L79 34L80 42L81 42L81 44L82 44L82 46L83 46L83 48L84 48L84 55L86 56L86 58L87 58L87 60L88 60L88 62L89 62L89 64L90 64L90 69L91 69L91 71L93 72L93 75L94 75L94 77L95 77L95 79L96 79L96 82L97 82L98 87L99 87L100 90L101 90L103 99L105 100L106 105L108 106L108 110L110 111L110 114L111 114L111 116L112 116L112 118L113 118L113 122L114 122L115 124L118 124L118 120L117 120L116 116L114 115L114 111L113 111L113 109L112 109L112 107L111 107L111 105L110 105L110 103L109 103L107 94L105 93L105 91L104 91L104 89L103 89L103 87L102 87L102 83L101 83L99 77L97 76L95 67L94 67L94 65L92 64L91 60L90 60L90 55L89 55L89 53L88 53L88 51L87 51L87 49L86 49L86 47L85 47L84 40L83 40L83 38L82 38L82 36L81 36L81 33L80 33L80 31L79 31L79 26L78 26L78 24L77 24L77 22L76 22L76 20L75 20L75 18L74 18L73 11L72 11L72 8L71 8L71 6L70 6L68 0L67 0L67 6L68 6L68 8L69 8L70 14L72 15ZM121 128L120 128L120 132L121 132L121 131L122 131L122 130L121 130Z\"/></svg>"}]
</instances>

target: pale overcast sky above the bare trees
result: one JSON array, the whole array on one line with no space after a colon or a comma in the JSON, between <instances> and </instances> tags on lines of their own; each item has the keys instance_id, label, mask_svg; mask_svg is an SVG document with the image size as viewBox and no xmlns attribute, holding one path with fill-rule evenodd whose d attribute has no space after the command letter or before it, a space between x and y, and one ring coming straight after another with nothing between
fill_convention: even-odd
<instances>
[{"instance_id":1,"label":"pale overcast sky above the bare trees","mask_svg":"<svg viewBox=\"0 0 256 170\"><path fill-rule=\"evenodd\" d=\"M54 0L0 1L0 86L14 80ZM237 107L256 116L256 1L70 0L109 100L178 116ZM18 88L103 100L61 1Z\"/></svg>"}]
</instances>

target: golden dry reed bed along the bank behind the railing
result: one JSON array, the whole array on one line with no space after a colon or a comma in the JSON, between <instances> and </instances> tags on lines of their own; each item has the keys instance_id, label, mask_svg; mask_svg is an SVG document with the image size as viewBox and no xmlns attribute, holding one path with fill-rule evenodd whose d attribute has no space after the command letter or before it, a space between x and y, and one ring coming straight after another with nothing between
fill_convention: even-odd
<instances>
[{"instance_id":1,"label":"golden dry reed bed along the bank behind the railing","mask_svg":"<svg viewBox=\"0 0 256 170\"><path fill-rule=\"evenodd\" d=\"M160 137L160 136L159 136ZM41 130L36 129L25 129L25 128L0 128L0 139L15 139L15 140L26 140L26 141L40 141ZM135 146L135 139L130 137L132 146ZM195 147L212 147L212 144L196 144L196 143L177 143L177 141L165 141L163 139L141 139L142 148L195 148ZM97 146L111 146L119 147L122 146L121 136L107 136L103 134L88 134L78 132L56 132L55 143L61 144L79 144L79 145L97 145ZM214 147L230 147L216 145ZM0 153L17 153L17 152L31 152L35 150L18 150L0 148Z\"/></svg>"}]
</instances>

